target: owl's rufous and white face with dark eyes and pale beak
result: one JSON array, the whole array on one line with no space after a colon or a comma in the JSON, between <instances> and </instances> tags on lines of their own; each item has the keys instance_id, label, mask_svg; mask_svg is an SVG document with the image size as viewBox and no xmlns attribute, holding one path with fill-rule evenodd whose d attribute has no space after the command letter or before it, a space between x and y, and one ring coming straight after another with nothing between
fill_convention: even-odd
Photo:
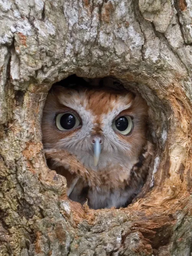
<instances>
[{"instance_id":1,"label":"owl's rufous and white face with dark eyes and pale beak","mask_svg":"<svg viewBox=\"0 0 192 256\"><path fill-rule=\"evenodd\" d=\"M42 119L45 149L66 150L92 170L135 163L146 144L147 105L126 90L56 86Z\"/></svg>"}]
</instances>

